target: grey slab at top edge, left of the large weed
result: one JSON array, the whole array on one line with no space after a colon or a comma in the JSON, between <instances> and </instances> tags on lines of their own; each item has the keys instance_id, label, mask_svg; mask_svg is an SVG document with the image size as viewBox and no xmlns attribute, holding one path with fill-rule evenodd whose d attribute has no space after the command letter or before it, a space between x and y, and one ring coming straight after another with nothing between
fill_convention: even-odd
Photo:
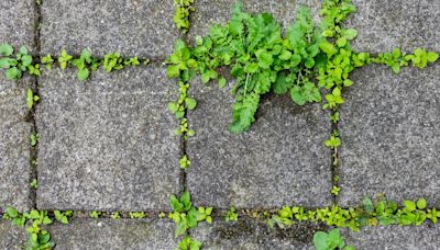
<instances>
[{"instance_id":1,"label":"grey slab at top edge, left of the large weed","mask_svg":"<svg viewBox=\"0 0 440 250\"><path fill-rule=\"evenodd\" d=\"M173 52L178 31L174 1L46 0L42 5L42 53L62 48L79 54L89 48L103 56L165 58Z\"/></svg>"}]
</instances>

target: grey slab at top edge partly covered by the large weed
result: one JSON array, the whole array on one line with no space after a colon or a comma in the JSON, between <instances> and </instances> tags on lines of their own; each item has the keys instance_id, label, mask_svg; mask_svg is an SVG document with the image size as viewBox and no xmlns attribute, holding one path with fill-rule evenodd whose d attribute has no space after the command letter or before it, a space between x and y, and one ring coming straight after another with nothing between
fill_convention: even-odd
<instances>
[{"instance_id":1,"label":"grey slab at top edge partly covered by the large weed","mask_svg":"<svg viewBox=\"0 0 440 250\"><path fill-rule=\"evenodd\" d=\"M195 35L206 35L209 33L210 26L213 24L224 24L229 22L232 16L233 5L238 2L237 0L199 0L195 1L194 7L196 12L191 15L191 30L190 33L194 38ZM295 13L299 5L307 5L312 9L314 15L317 18L318 9L320 7L320 0L299 0L297 1L285 1L285 0L250 0L242 1L243 11L251 13L263 13L267 12L273 14L283 27L286 30L287 26L295 20ZM318 20L318 19L316 19Z\"/></svg>"}]
</instances>

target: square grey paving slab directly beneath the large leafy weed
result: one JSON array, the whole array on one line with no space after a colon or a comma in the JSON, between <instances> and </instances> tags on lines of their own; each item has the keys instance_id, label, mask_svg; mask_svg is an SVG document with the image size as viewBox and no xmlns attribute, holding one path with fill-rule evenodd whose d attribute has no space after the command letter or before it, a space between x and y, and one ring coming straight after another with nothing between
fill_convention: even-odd
<instances>
[{"instance_id":1,"label":"square grey paving slab directly beneath the large leafy weed","mask_svg":"<svg viewBox=\"0 0 440 250\"><path fill-rule=\"evenodd\" d=\"M232 86L232 84L230 84ZM331 130L319 104L299 107L288 96L266 96L250 132L229 132L233 95L195 82L189 112L196 136L187 143L187 183L196 204L228 208L331 204Z\"/></svg>"}]
</instances>

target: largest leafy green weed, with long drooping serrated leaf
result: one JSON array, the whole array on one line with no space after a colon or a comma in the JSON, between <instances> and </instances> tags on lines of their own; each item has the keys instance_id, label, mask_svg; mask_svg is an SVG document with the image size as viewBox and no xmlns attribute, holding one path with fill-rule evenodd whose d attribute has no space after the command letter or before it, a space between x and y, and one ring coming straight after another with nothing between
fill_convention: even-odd
<instances>
[{"instance_id":1,"label":"largest leafy green weed, with long drooping serrated leaf","mask_svg":"<svg viewBox=\"0 0 440 250\"><path fill-rule=\"evenodd\" d=\"M354 36L346 33L349 38ZM230 67L235 78L230 130L241 133L255 121L261 95L271 90L276 94L288 92L298 105L320 102L314 77L326 72L328 58L338 53L330 45L306 8L298 10L296 22L283 37L280 24L271 14L251 15L238 3L231 21L212 26L206 37L197 37L195 47L177 42L167 60L168 77L188 81L198 73L204 83L218 80L222 87L226 78L217 69Z\"/></svg>"}]
</instances>

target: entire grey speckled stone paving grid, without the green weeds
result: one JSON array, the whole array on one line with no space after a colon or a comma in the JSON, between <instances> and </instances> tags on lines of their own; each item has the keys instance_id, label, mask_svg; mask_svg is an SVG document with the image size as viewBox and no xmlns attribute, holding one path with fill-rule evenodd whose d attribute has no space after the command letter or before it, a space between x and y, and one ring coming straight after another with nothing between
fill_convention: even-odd
<instances>
[{"instance_id":1,"label":"entire grey speckled stone paving grid, without the green weeds","mask_svg":"<svg viewBox=\"0 0 440 250\"><path fill-rule=\"evenodd\" d=\"M174 134L178 122L167 103L178 95L166 78L164 58L175 41L207 33L229 20L235 0L196 0L188 36L173 23L174 1L2 0L0 44L26 45L34 55L79 54L152 58L147 67L111 75L98 71L86 82L74 71L53 69L38 79L7 81L0 76L0 212L38 209L168 212L169 195L185 189L196 205L227 209L359 205L365 195L395 201L425 196L440 206L440 68L408 68L394 75L369 66L353 75L344 93L339 129L342 192L332 186L331 133L319 104L298 107L287 96L264 96L252 129L228 132L233 102L229 89L191 83L198 107L188 113L196 136L186 144ZM358 50L378 53L417 46L440 50L437 0L354 0L359 13L348 26L359 30ZM251 12L271 12L286 27L299 4L319 20L319 0L244 1ZM36 23L40 22L40 25ZM29 114L28 88L41 102ZM36 129L37 148L29 144ZM183 152L191 167L178 167ZM32 156L37 156L37 166ZM30 181L37 175L34 193ZM226 224L215 216L190 234L206 249L311 249L317 225L268 230L251 219ZM167 219L92 219L50 227L56 249L173 249L178 238ZM440 228L377 227L343 232L360 249L438 249ZM0 218L0 249L20 249L23 230Z\"/></svg>"}]
</instances>

